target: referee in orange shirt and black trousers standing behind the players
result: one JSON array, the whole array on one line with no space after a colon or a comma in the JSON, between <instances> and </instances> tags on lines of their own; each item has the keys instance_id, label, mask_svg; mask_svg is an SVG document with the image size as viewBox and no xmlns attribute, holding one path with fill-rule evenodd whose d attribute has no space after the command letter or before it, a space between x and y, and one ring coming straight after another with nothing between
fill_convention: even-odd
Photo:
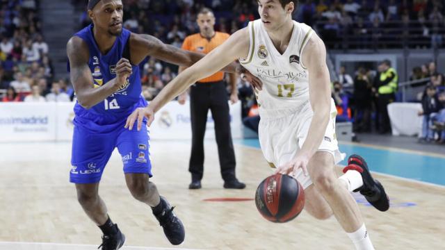
<instances>
[{"instance_id":1,"label":"referee in orange shirt and black trousers standing behind the players","mask_svg":"<svg viewBox=\"0 0 445 250\"><path fill-rule=\"evenodd\" d=\"M189 35L182 44L182 49L209 53L212 49L222 44L229 34L215 32L215 16L209 8L203 8L197 15L197 25L200 33ZM179 72L184 67L179 67ZM230 74L232 93L230 101L238 101L236 89L236 74ZM204 172L204 133L206 131L207 113L215 122L216 143L221 167L221 176L224 180L224 188L243 189L245 184L238 181L235 174L235 153L230 132L229 104L225 88L224 73L218 72L201 79L190 88L190 110L192 124L192 151L188 171L191 172L192 182L189 189L201 188L201 179ZM187 92L179 96L179 103L184 104Z\"/></svg>"}]
</instances>

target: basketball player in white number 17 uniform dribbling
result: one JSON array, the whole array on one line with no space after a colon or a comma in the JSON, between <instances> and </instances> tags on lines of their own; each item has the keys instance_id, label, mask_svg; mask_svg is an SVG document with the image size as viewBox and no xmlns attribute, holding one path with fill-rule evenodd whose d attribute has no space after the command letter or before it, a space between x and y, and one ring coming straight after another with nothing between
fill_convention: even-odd
<instances>
[{"instance_id":1,"label":"basketball player in white number 17 uniform dribbling","mask_svg":"<svg viewBox=\"0 0 445 250\"><path fill-rule=\"evenodd\" d=\"M294 0L259 0L261 19L236 31L225 43L179 74L149 103L127 119L132 128L200 78L218 72L233 60L263 82L255 90L259 103L259 140L276 172L291 174L305 188L305 209L317 219L332 214L356 249L373 249L357 203L350 192L361 192L378 210L389 209L382 185L363 158L348 159L340 178L334 164L344 158L335 137L334 101L323 41L312 28L292 20Z\"/></svg>"}]
</instances>

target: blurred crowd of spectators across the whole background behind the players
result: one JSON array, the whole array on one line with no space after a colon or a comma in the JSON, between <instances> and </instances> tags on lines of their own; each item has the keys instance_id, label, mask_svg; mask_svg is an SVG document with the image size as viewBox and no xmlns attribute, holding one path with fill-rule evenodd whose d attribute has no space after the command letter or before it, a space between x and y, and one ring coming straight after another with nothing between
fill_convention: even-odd
<instances>
[{"instance_id":1,"label":"blurred crowd of spectators across the whole background behind the players","mask_svg":"<svg viewBox=\"0 0 445 250\"><path fill-rule=\"evenodd\" d=\"M72 1L82 10L78 29L90 23L85 11L87 2ZM216 31L225 33L234 33L259 18L257 0L122 2L125 28L154 35L175 47L181 47L187 35L199 32L196 13L204 6L215 12ZM48 45L40 33L38 4L37 0L0 0L0 90L6 92L1 101L70 101L74 97L67 81L54 78ZM330 48L372 49L375 44L385 48L439 48L444 47L444 11L444 3L439 0L305 0L300 1L293 19L311 25ZM398 42L410 40L412 44L391 44L391 36ZM156 97L177 75L175 65L154 58L147 58L140 67L143 95L147 100ZM354 122L356 132L373 131L370 124L375 119L372 118L378 120L380 116L382 108L378 107L376 79L381 73L379 68L358 67L353 74L348 74L346 68L341 67L339 81L332 83L332 97L339 111L337 119ZM423 79L417 84L426 85L417 100L423 105L423 113L419 115L428 117L424 118L422 138L426 142L434 138L444 142L445 135L437 136L434 132L440 131L445 122L442 72L435 68L435 63L419 65L412 69L410 79ZM238 93L243 117L257 114L254 94L241 78ZM375 131L387 133L386 128L382 129L385 124L377 121L374 126Z\"/></svg>"}]
</instances>

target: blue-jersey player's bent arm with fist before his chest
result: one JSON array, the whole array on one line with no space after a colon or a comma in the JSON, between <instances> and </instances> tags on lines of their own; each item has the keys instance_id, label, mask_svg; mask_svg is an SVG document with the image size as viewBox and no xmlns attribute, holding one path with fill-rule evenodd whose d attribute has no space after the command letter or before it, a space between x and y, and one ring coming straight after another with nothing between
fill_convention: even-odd
<instances>
[{"instance_id":1,"label":"blue-jersey player's bent arm with fist before his chest","mask_svg":"<svg viewBox=\"0 0 445 250\"><path fill-rule=\"evenodd\" d=\"M116 78L94 88L88 60L88 45L79 37L72 37L67 44L67 55L70 60L70 79L76 92L76 98L83 108L91 108L113 94L125 83L131 74L131 64L122 58L116 65Z\"/></svg>"}]
</instances>

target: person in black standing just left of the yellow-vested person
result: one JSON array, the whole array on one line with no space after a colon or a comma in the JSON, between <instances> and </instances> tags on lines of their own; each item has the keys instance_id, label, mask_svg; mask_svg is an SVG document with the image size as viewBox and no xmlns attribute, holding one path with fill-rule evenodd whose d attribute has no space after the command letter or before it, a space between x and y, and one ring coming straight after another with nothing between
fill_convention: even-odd
<instances>
[{"instance_id":1,"label":"person in black standing just left of the yellow-vested person","mask_svg":"<svg viewBox=\"0 0 445 250\"><path fill-rule=\"evenodd\" d=\"M360 67L354 79L354 124L355 132L371 132L372 83L366 69Z\"/></svg>"}]
</instances>

